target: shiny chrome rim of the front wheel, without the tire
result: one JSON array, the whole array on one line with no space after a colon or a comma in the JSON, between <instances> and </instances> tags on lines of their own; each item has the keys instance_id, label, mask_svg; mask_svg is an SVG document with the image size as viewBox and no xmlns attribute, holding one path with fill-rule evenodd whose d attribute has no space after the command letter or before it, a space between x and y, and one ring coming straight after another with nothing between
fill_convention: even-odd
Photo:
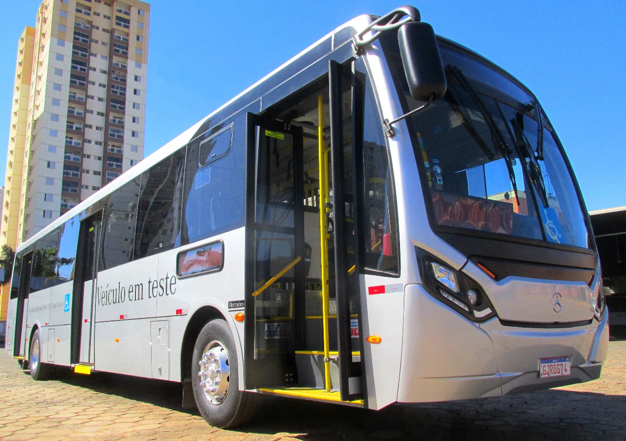
<instances>
[{"instance_id":1,"label":"shiny chrome rim of the front wheel, without the tire","mask_svg":"<svg viewBox=\"0 0 626 441\"><path fill-rule=\"evenodd\" d=\"M228 352L222 343L213 340L204 348L200 362L200 386L207 399L220 405L228 395L230 385L230 363Z\"/></svg>"}]
</instances>

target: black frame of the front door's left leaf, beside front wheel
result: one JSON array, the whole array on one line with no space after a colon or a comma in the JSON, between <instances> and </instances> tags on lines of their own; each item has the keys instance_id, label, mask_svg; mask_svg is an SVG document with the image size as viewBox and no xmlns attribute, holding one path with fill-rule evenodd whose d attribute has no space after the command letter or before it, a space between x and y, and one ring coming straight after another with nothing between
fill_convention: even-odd
<instances>
[{"instance_id":1,"label":"black frame of the front door's left leaf, beside front wheel","mask_svg":"<svg viewBox=\"0 0 626 441\"><path fill-rule=\"evenodd\" d=\"M258 114L246 114L246 171L245 171L245 317L244 322L244 387L255 389L260 387L282 387L285 385L284 362L279 358L255 359L255 328L256 314L254 297L252 293L255 287L255 260L257 231L256 208L257 208L257 176L259 173L258 151L261 146L262 136L260 129L289 134L294 141L294 255L302 256L302 261L293 266L295 275L295 315L299 317L299 302L297 299L304 298L304 200L299 195L304 195L303 171L302 171L302 128L297 126L285 127L280 121L275 121ZM258 146L257 146L258 141ZM279 228L279 227L277 227ZM265 228L267 231L267 227ZM279 232L279 231L277 231ZM289 234L289 233L287 233ZM292 329L292 337L298 341L299 324L296 322ZM293 356L294 354L288 355ZM294 372L295 376L295 363Z\"/></svg>"}]
</instances>

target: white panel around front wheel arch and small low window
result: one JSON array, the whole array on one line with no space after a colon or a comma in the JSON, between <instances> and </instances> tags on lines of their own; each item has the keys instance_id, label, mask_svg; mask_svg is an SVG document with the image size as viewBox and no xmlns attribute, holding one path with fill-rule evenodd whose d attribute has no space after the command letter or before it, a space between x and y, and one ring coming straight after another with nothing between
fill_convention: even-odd
<instances>
[{"instance_id":1,"label":"white panel around front wheel arch and small low window","mask_svg":"<svg viewBox=\"0 0 626 441\"><path fill-rule=\"evenodd\" d=\"M212 306L224 315L225 320L230 325L237 353L239 355L239 378L244 378L243 363L243 326L237 330L236 323L232 315L228 313L228 302L244 300L244 228L228 231L222 235L213 236L210 239L198 241L192 245L178 248L177 250L166 251L159 255L159 278L176 275L175 292L172 294L168 286L168 295L161 295L157 299L158 317L168 317L185 315L185 319L173 317L170 320L171 334L170 347L173 354L170 358L170 379L180 381L182 378L181 352L183 336L187 328L188 318L193 313L204 306ZM186 250L193 250L204 245L221 240L223 243L223 265L213 272L195 276L178 276L177 255ZM164 280L165 281L165 280ZM171 282L171 278L168 283ZM160 288L159 288L160 289ZM193 337L195 338L195 336ZM243 385L243 382L240 382Z\"/></svg>"}]
</instances>

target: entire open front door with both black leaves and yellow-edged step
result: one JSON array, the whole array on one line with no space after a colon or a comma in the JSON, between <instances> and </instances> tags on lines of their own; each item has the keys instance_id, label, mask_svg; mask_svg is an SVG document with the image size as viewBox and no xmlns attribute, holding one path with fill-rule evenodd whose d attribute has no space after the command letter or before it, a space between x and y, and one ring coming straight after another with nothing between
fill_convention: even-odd
<instances>
[{"instance_id":1,"label":"entire open front door with both black leaves and yellow-edged step","mask_svg":"<svg viewBox=\"0 0 626 441\"><path fill-rule=\"evenodd\" d=\"M363 405L352 88L331 62L275 119L248 114L247 389Z\"/></svg>"}]
</instances>

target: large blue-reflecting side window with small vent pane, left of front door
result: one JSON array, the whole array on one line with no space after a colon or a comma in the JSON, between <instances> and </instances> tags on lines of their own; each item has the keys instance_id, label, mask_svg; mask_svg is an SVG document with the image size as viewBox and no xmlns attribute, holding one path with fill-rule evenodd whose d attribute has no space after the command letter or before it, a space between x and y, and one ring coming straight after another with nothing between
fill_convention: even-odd
<instances>
[{"instance_id":1,"label":"large blue-reflecting side window with small vent pane, left of front door","mask_svg":"<svg viewBox=\"0 0 626 441\"><path fill-rule=\"evenodd\" d=\"M244 112L188 144L183 195L181 245L244 225Z\"/></svg>"}]
</instances>

